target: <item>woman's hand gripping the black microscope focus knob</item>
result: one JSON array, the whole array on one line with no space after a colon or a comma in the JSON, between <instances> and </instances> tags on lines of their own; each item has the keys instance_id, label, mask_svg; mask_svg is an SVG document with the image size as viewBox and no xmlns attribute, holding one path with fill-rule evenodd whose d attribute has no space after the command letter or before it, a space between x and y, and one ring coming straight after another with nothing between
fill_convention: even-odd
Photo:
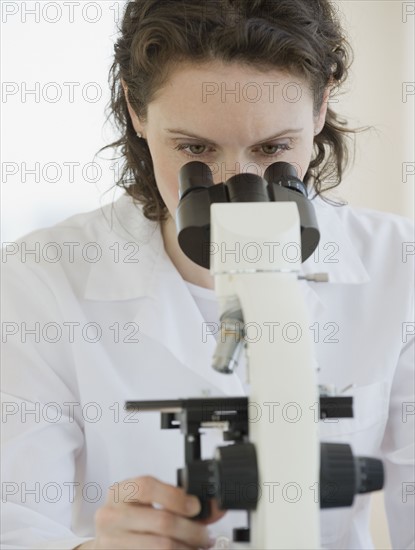
<instances>
[{"instance_id":1,"label":"woman's hand gripping the black microscope focus knob","mask_svg":"<svg viewBox=\"0 0 415 550\"><path fill-rule=\"evenodd\" d=\"M163 508L154 508L153 503ZM103 549L196 549L209 548L214 541L205 525L226 512L212 501L207 520L189 518L200 512L200 501L150 476L128 479L110 487L104 506L95 514L95 539L77 548Z\"/></svg>"}]
</instances>

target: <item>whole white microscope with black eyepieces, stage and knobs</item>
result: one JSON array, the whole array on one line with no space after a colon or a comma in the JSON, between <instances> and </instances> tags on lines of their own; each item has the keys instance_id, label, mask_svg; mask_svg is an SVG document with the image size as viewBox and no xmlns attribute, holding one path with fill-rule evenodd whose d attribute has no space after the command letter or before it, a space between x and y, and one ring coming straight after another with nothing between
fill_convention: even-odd
<instances>
[{"instance_id":1,"label":"whole white microscope with black eyepieces, stage and knobs","mask_svg":"<svg viewBox=\"0 0 415 550\"><path fill-rule=\"evenodd\" d=\"M248 512L232 548L318 549L320 508L351 506L356 494L381 489L384 471L380 460L355 457L348 444L319 441L318 420L353 417L353 399L317 384L299 279L324 284L327 275L301 275L320 239L307 187L285 162L270 165L264 177L242 173L219 184L208 165L190 162L179 185L179 245L210 269L219 299L212 368L227 376L244 352L250 394L128 401L126 409L159 411L161 428L180 429L185 465L177 483L200 499L195 519L209 517L213 498L222 510ZM250 322L297 332L247 343ZM262 414L258 421L258 406L270 413L277 404L295 414ZM227 445L202 460L201 430L218 427Z\"/></svg>"}]
</instances>

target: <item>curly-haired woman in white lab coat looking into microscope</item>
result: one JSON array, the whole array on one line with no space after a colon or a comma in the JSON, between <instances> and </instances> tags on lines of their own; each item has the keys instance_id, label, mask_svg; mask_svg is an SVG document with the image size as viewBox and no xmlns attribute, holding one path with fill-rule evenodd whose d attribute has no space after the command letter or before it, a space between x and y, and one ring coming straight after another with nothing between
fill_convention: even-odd
<instances>
[{"instance_id":1,"label":"curly-haired woman in white lab coat looking into microscope","mask_svg":"<svg viewBox=\"0 0 415 550\"><path fill-rule=\"evenodd\" d=\"M321 437L383 459L393 545L411 547L411 225L322 200L347 161L351 131L328 103L349 60L326 0L127 4L111 102L127 193L25 237L39 258L7 257L5 548L223 547L246 523L218 509L208 527L192 520L199 503L175 486L181 437L160 431L158 414L123 410L247 391L242 372L210 366L213 279L177 242L177 175L190 160L215 183L290 162L315 197L322 239L303 272L330 278L304 283L319 382L352 386L355 402L353 419L320 423ZM43 253L53 243L56 261ZM204 437L212 456L220 437ZM322 512L322 546L372 548L368 510L359 496Z\"/></svg>"}]
</instances>

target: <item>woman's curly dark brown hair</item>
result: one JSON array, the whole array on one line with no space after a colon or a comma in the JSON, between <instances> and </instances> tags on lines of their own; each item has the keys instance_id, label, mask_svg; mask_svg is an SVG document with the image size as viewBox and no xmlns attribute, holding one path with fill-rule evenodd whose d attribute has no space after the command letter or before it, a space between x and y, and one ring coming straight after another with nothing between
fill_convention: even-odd
<instances>
[{"instance_id":1,"label":"woman's curly dark brown hair","mask_svg":"<svg viewBox=\"0 0 415 550\"><path fill-rule=\"evenodd\" d=\"M168 210L147 142L137 139L133 128L121 79L143 122L148 104L183 61L219 60L289 71L310 86L318 113L324 90L328 85L331 94L338 90L353 56L329 0L131 0L119 32L109 73L107 120L113 118L121 137L100 151L120 149L117 158L123 165L116 185L142 203L144 215L153 221L165 220ZM356 131L328 107L304 176L315 196L339 185L350 160L346 138Z\"/></svg>"}]
</instances>

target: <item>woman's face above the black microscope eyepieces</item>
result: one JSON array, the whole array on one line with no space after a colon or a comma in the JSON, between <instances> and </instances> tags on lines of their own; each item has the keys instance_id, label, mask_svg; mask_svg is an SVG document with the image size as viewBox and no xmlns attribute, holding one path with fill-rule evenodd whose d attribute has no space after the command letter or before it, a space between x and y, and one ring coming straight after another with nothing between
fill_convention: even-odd
<instances>
[{"instance_id":1,"label":"woman's face above the black microscope eyepieces","mask_svg":"<svg viewBox=\"0 0 415 550\"><path fill-rule=\"evenodd\" d=\"M263 175L276 161L294 164L302 179L326 109L327 94L313 116L311 90L298 77L214 62L180 65L149 104L145 124L129 110L174 218L179 170L190 161L208 164L215 183L238 173Z\"/></svg>"}]
</instances>

